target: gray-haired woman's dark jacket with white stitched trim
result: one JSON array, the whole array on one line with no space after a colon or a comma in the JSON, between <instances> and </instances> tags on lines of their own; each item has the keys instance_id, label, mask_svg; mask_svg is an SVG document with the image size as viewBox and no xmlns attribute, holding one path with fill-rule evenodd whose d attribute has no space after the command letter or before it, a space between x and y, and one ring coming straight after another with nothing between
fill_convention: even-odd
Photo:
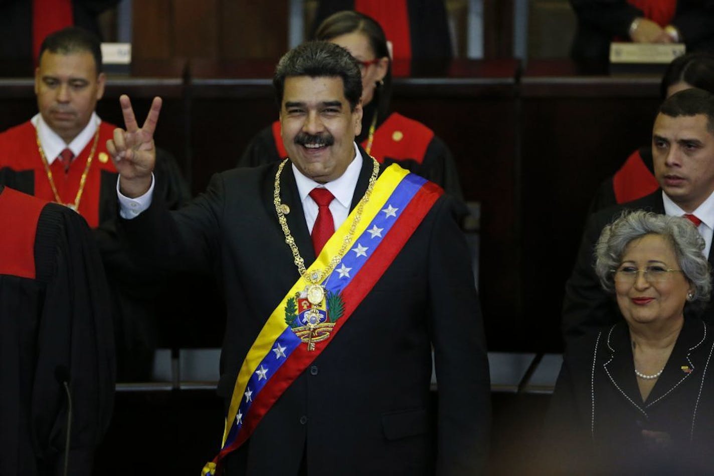
<instances>
[{"instance_id":1,"label":"gray-haired woman's dark jacket with white stitched trim","mask_svg":"<svg viewBox=\"0 0 714 476\"><path fill-rule=\"evenodd\" d=\"M664 371L643 401L622 321L568 346L541 454L564 474L700 474L714 463L714 336L685 319ZM668 433L657 447L642 430Z\"/></svg>"}]
</instances>

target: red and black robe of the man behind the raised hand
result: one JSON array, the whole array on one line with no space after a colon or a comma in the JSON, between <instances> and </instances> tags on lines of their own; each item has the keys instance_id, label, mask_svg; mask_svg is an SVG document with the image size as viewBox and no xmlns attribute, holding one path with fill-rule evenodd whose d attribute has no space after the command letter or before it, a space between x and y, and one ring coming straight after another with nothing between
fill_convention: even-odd
<instances>
[{"instance_id":1,"label":"red and black robe of the man behind the raised hand","mask_svg":"<svg viewBox=\"0 0 714 476\"><path fill-rule=\"evenodd\" d=\"M81 177L86 170L84 188L77 210L93 229L110 283L112 314L115 320L120 380L146 380L150 376L156 334L156 289L163 275L133 262L126 244L117 233L116 180L118 174L106 152L106 141L115 125L99 121L96 150L91 154L95 137L71 160L65 172L60 160L52 161L49 171L59 200L40 155L36 124L40 115L0 133L0 184L7 185L43 200L74 205ZM45 125L46 127L46 125ZM177 208L188 200L188 187L183 182L174 157L157 151L156 188L158 193Z\"/></svg>"}]
</instances>

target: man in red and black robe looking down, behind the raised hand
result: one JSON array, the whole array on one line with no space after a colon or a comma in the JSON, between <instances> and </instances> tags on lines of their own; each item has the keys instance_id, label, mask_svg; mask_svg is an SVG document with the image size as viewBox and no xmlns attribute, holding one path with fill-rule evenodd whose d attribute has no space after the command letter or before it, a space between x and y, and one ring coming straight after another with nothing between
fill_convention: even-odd
<instances>
[{"instance_id":1,"label":"man in red and black robe looking down, behind the raised hand","mask_svg":"<svg viewBox=\"0 0 714 476\"><path fill-rule=\"evenodd\" d=\"M0 184L79 212L94 229L111 282L120 380L144 380L154 356L151 270L132 264L116 234L116 177L106 152L115 125L94 112L104 95L99 40L70 27L41 46L35 71L39 113L0 133ZM171 155L157 160L157 193L171 207L188 190Z\"/></svg>"}]
</instances>

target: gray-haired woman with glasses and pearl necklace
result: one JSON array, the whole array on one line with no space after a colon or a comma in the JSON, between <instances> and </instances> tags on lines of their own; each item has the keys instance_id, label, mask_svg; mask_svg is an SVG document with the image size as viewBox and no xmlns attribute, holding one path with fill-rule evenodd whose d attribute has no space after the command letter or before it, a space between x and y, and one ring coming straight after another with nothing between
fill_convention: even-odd
<instances>
[{"instance_id":1,"label":"gray-haired woman with glasses and pearl necklace","mask_svg":"<svg viewBox=\"0 0 714 476\"><path fill-rule=\"evenodd\" d=\"M625 212L603 229L595 272L624 319L568 346L546 420L550 470L711 470L712 331L704 240L688 219Z\"/></svg>"}]
</instances>

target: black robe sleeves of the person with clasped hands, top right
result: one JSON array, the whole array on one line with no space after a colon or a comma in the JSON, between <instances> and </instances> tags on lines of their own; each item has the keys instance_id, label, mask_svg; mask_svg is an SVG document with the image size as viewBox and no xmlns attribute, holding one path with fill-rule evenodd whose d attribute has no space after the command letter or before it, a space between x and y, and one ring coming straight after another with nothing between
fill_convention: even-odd
<instances>
[{"instance_id":1,"label":"black robe sleeves of the person with clasped hands, top right","mask_svg":"<svg viewBox=\"0 0 714 476\"><path fill-rule=\"evenodd\" d=\"M630 24L640 9L627 0L570 0L578 17L571 56L576 60L607 61L610 41L620 36L628 41ZM684 37L687 51L708 50L714 46L714 1L678 0L673 26Z\"/></svg>"}]
</instances>

